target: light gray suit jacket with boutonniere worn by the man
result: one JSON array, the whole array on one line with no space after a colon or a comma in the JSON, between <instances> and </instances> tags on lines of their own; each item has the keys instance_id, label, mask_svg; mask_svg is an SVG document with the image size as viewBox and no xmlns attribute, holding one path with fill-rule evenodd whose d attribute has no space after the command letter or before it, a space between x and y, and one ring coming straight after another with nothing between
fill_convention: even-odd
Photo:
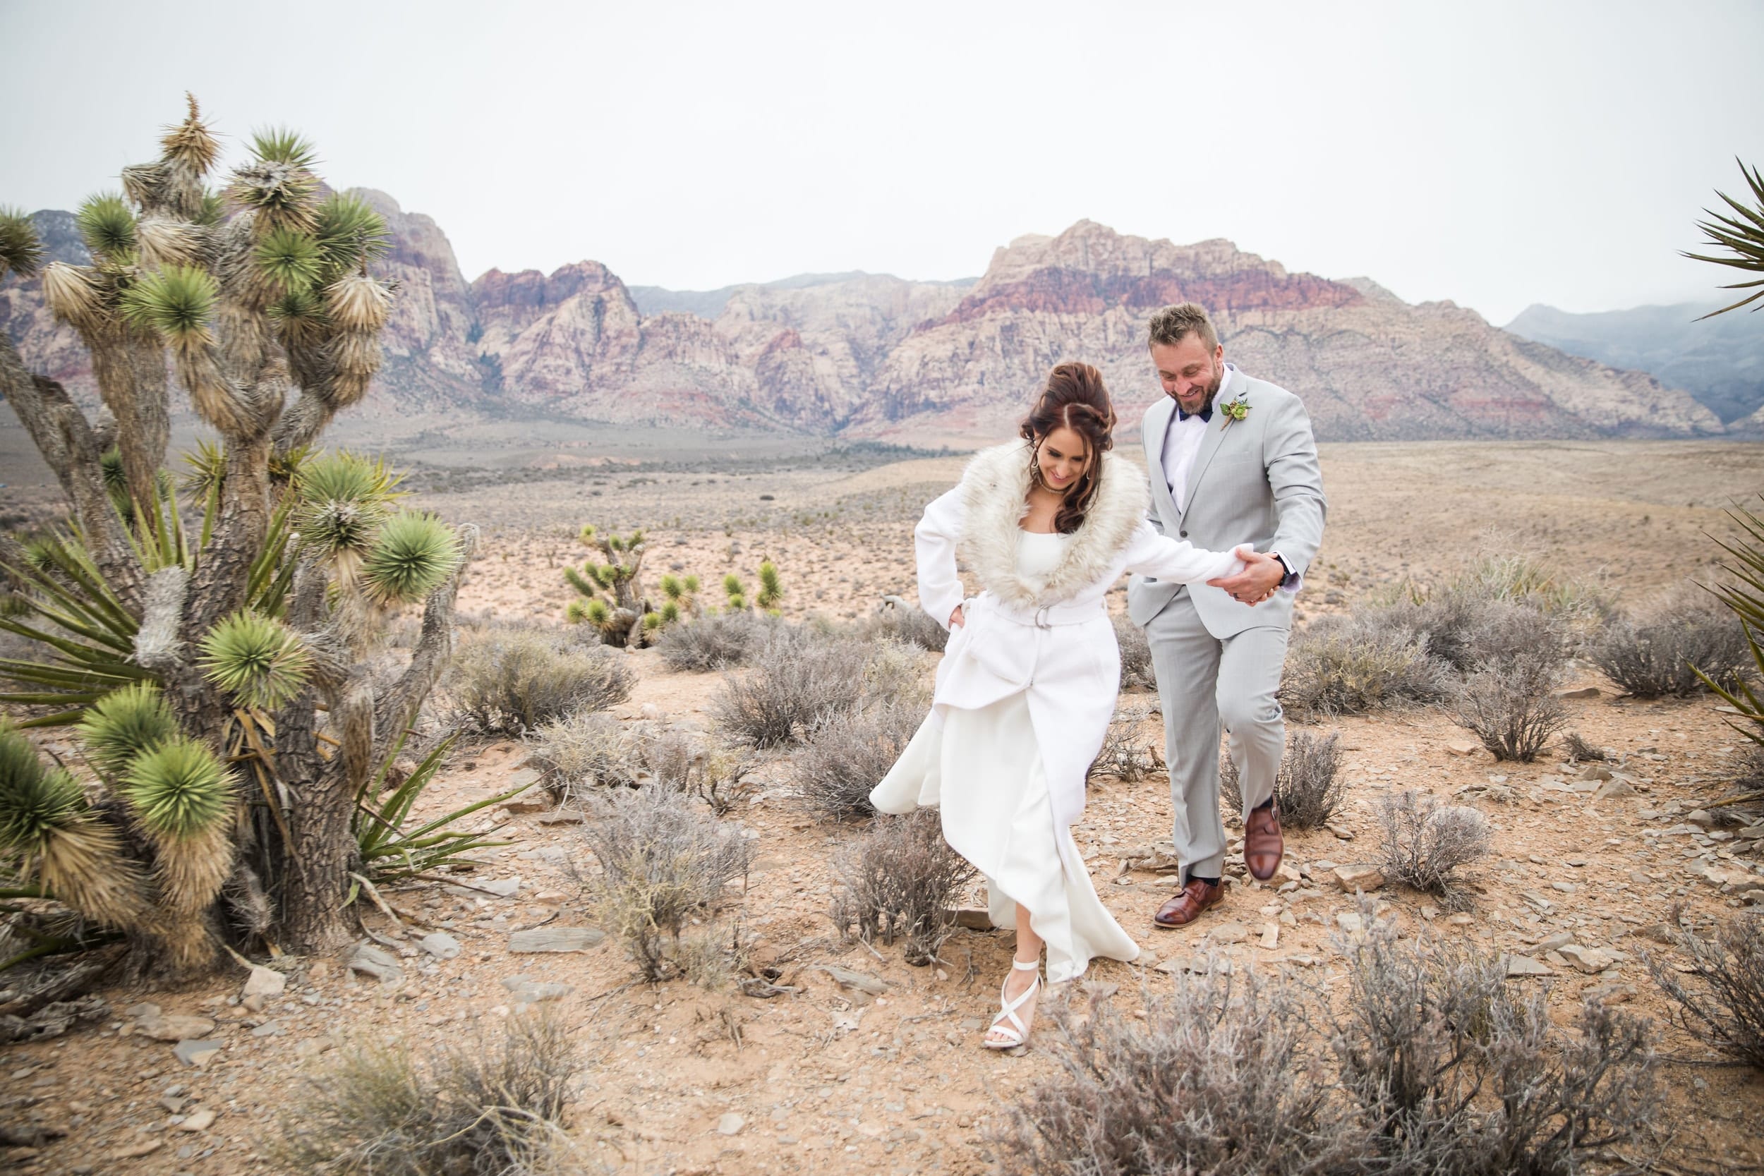
<instances>
[{"instance_id":1,"label":"light gray suit jacket with boutonniere worn by the man","mask_svg":"<svg viewBox=\"0 0 1764 1176\"><path fill-rule=\"evenodd\" d=\"M1221 409L1242 397L1249 416L1226 427ZM1293 393L1265 379L1231 370L1214 398L1214 414L1194 465L1189 469L1178 511L1164 476L1164 434L1177 416L1177 402L1161 397L1145 411L1145 467L1152 478L1152 524L1164 534L1196 547L1222 552L1237 543L1254 543L1258 552L1279 552L1304 577L1323 541L1323 471L1311 416ZM1196 584L1161 584L1134 577L1127 584L1127 615L1147 624L1180 592L1194 598L1194 610L1207 631L1226 638L1244 629L1293 626L1297 592L1277 591L1272 599L1242 605L1222 589Z\"/></svg>"}]
</instances>

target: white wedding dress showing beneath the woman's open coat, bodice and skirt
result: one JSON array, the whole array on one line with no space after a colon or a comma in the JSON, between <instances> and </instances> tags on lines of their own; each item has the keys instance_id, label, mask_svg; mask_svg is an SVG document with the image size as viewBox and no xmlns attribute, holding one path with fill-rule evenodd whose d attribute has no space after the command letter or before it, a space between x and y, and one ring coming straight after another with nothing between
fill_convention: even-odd
<instances>
[{"instance_id":1,"label":"white wedding dress showing beneath the woman's open coat, bodice and skirt","mask_svg":"<svg viewBox=\"0 0 1764 1176\"><path fill-rule=\"evenodd\" d=\"M1021 532L1023 577L1046 577L1067 534ZM1071 829L1055 822L1041 748L1023 691L979 709L949 707L914 735L871 792L884 811L942 811L944 839L986 876L995 926L1016 926L1016 904L1048 943L1048 982L1083 975L1095 956L1134 959L1140 945L1102 906Z\"/></svg>"}]
</instances>

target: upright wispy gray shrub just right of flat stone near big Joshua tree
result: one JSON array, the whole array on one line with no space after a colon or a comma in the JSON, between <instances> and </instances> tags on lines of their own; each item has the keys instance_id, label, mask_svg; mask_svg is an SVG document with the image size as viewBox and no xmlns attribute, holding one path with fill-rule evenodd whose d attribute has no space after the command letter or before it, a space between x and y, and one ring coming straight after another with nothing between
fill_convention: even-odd
<instances>
[{"instance_id":1,"label":"upright wispy gray shrub just right of flat stone near big Joshua tree","mask_svg":"<svg viewBox=\"0 0 1764 1176\"><path fill-rule=\"evenodd\" d=\"M646 980L697 968L704 943L683 943L681 933L693 919L707 922L723 887L746 875L748 841L656 785L591 793L586 808L582 837L600 873L573 869L602 926L624 943Z\"/></svg>"}]
</instances>

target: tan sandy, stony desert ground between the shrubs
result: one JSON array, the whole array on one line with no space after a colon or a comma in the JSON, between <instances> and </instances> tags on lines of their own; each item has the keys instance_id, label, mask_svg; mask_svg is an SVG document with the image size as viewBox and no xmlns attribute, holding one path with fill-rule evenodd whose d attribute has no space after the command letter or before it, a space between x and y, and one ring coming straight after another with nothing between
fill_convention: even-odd
<instances>
[{"instance_id":1,"label":"tan sandy, stony desert ground between the shrubs","mask_svg":"<svg viewBox=\"0 0 1764 1176\"><path fill-rule=\"evenodd\" d=\"M651 584L667 569L699 573L707 584L725 571L751 578L771 557L783 571L789 617L854 619L884 594L910 598L912 520L953 483L960 458L766 460L755 465L743 455L647 473L570 467L550 480L522 473L506 485L429 488L413 504L482 529L460 596L467 619L559 622L572 594L561 566L584 555L573 538L584 522L647 527ZM1402 575L1438 577L1484 545L1531 550L1641 605L1656 589L1706 575L1715 552L1706 532L1729 531L1722 508L1764 487L1764 446L1739 444L1344 444L1325 446L1323 460L1330 527L1305 589L1307 619ZM522 458L510 469L534 465ZM0 506L28 511L42 501L30 485L9 492L14 497ZM628 659L639 684L617 716L660 711L714 737L706 707L718 675L669 672L653 651ZM933 666L928 654L926 677ZM1237 885L1192 931L1155 931L1150 917L1170 894L1168 882L1120 869L1132 850L1168 837L1164 778L1099 783L1078 841L1106 904L1145 954L1131 966L1099 961L1092 984L1071 998L1118 1001L1141 986L1168 987L1171 973L1208 947L1235 966L1335 982L1341 959L1328 936L1355 899L1328 883L1328 871L1374 857L1374 809L1385 793L1420 788L1459 797L1496 829L1494 853L1473 873L1475 906L1454 919L1395 887L1378 890L1379 906L1408 933L1464 936L1538 957L1547 975L1514 982L1542 986L1559 1019L1595 987L1655 1017L1674 1162L1702 1171L1757 1165L1764 1077L1711 1065L1713 1054L1671 1024L1641 963L1644 949L1669 949L1637 934L1672 903L1700 919L1732 913L1739 899L1708 882L1709 867L1760 873L1757 857L1736 852L1745 841L1681 822L1730 790L1743 744L1709 700L1618 698L1586 668L1570 686L1600 689L1568 702L1570 730L1616 749L1637 795L1593 800L1573 790L1575 772L1554 758L1498 765L1480 749L1452 753L1448 744L1466 732L1436 711L1330 723L1318 730L1339 730L1348 749L1351 793L1339 823L1351 837L1289 834L1286 860L1300 873L1298 885L1284 894ZM505 788L526 755L515 741L459 746L425 808ZM986 1128L1018 1091L1051 1072L1034 1044L1021 1056L977 1046L1011 934L958 931L942 950L946 966L930 968L905 964L898 945L841 943L826 913L831 857L856 830L810 820L789 792L789 767L787 755L767 760L751 802L732 815L753 837L757 862L723 917L757 938L757 950L781 971L778 982L794 991L759 1000L686 982L646 986L610 942L575 954L510 954L513 931L591 926L591 919L566 871L586 857L580 830L545 823L545 813L503 813L487 820L501 822L512 845L471 882L519 878L513 896L427 887L392 896L407 929L377 912L365 915L369 927L404 945L397 986L353 977L340 956L282 961L288 991L259 1012L238 1005L242 971L180 993L109 991L113 1019L11 1049L0 1065L5 1116L67 1134L35 1153L12 1150L7 1160L23 1172L268 1171L265 1143L277 1116L293 1105L302 1076L328 1065L335 1047L392 1035L418 1051L460 1040L475 1024L519 1016L505 980L526 977L570 986L552 1007L587 1058L570 1132L591 1171L986 1171ZM464 952L432 959L415 945L430 929L457 936ZM1538 950L1559 931L1614 952L1616 963L1584 975ZM882 994L838 984L824 964L875 979ZM213 1037L224 1047L205 1067L180 1063L171 1044L131 1031L134 1021L122 1010L143 1000L215 1019ZM215 1113L213 1121L187 1130L205 1121L196 1114L203 1109Z\"/></svg>"}]
</instances>

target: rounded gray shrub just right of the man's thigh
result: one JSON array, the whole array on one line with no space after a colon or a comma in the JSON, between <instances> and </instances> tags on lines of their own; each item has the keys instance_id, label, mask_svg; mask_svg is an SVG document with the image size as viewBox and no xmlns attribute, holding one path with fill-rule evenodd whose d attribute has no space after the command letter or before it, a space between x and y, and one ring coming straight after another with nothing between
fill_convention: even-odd
<instances>
[{"instance_id":1,"label":"rounded gray shrub just right of the man's thigh","mask_svg":"<svg viewBox=\"0 0 1764 1176\"><path fill-rule=\"evenodd\" d=\"M1293 635L1281 702L1297 716L1365 714L1436 702L1450 674L1427 638L1385 617L1321 617Z\"/></svg>"}]
</instances>

